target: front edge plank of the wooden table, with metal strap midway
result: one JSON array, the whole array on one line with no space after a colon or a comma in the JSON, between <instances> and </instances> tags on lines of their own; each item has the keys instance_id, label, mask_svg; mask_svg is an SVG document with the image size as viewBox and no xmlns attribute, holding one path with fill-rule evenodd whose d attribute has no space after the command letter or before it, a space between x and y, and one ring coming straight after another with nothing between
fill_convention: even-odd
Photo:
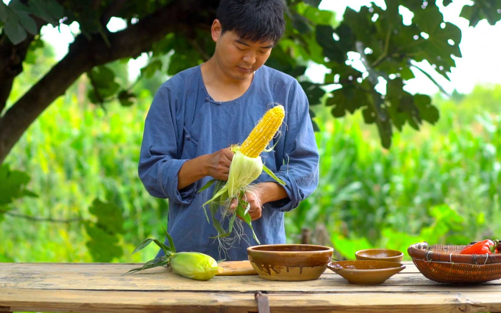
<instances>
[{"instance_id":1,"label":"front edge plank of the wooden table, with metal strap midway","mask_svg":"<svg viewBox=\"0 0 501 313\"><path fill-rule=\"evenodd\" d=\"M501 308L501 292L270 293L271 311L285 312L461 312ZM12 311L81 313L256 312L254 293L82 291L0 288L0 307Z\"/></svg>"}]
</instances>

